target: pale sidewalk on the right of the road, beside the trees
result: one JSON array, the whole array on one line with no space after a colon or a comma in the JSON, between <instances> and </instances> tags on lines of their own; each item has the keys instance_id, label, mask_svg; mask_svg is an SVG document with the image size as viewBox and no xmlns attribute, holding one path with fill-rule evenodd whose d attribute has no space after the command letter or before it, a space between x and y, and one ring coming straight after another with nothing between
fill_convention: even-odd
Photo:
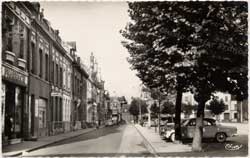
<instances>
[{"instance_id":1,"label":"pale sidewalk on the right of the road, beside the trees","mask_svg":"<svg viewBox=\"0 0 250 158\"><path fill-rule=\"evenodd\" d=\"M167 142L162 140L158 132L155 132L155 129L151 127L142 127L138 124L135 125L135 128L141 133L141 135L146 139L147 148L157 155L157 153L176 153L176 152L191 152L191 146L184 144L174 144L172 142Z\"/></svg>"}]
</instances>

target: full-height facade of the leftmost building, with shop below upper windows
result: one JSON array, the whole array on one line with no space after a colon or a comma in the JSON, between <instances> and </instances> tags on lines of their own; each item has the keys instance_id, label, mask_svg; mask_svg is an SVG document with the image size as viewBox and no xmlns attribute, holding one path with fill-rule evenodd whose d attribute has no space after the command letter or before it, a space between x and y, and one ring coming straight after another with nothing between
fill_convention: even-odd
<instances>
[{"instance_id":1,"label":"full-height facade of the leftmost building, with shop below upper windows","mask_svg":"<svg viewBox=\"0 0 250 158\"><path fill-rule=\"evenodd\" d=\"M2 3L3 143L28 134L28 54L31 19L22 3Z\"/></svg>"}]
</instances>

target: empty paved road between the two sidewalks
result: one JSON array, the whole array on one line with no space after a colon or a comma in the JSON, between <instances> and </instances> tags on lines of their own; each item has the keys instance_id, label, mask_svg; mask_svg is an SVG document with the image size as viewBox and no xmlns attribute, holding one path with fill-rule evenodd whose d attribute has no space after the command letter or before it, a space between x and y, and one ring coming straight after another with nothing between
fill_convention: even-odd
<instances>
[{"instance_id":1,"label":"empty paved road between the two sidewalks","mask_svg":"<svg viewBox=\"0 0 250 158\"><path fill-rule=\"evenodd\" d=\"M153 156L132 125L105 127L23 156Z\"/></svg>"}]
</instances>

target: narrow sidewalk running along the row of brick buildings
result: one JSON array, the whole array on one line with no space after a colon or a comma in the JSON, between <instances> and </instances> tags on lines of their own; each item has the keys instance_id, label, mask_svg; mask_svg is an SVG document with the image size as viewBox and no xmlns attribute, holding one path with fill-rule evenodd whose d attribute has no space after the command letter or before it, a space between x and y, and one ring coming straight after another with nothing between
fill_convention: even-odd
<instances>
[{"instance_id":1,"label":"narrow sidewalk running along the row of brick buildings","mask_svg":"<svg viewBox=\"0 0 250 158\"><path fill-rule=\"evenodd\" d=\"M2 147L2 155L3 156L18 156L23 152L30 152L33 150L37 150L43 147L46 147L50 144L70 139L88 132L95 130L95 128L87 128L82 130L77 130L74 132L63 133L55 136L43 137L39 138L37 141L23 141L19 144L8 145Z\"/></svg>"}]
</instances>

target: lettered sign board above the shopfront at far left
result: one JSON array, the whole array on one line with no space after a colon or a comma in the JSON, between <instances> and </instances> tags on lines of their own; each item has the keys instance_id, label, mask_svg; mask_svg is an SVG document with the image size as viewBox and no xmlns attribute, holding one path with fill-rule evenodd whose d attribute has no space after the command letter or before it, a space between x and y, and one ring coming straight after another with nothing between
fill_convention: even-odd
<instances>
[{"instance_id":1,"label":"lettered sign board above the shopfront at far left","mask_svg":"<svg viewBox=\"0 0 250 158\"><path fill-rule=\"evenodd\" d=\"M2 67L2 76L5 79L20 83L22 85L27 85L27 82L28 82L27 76L17 72L16 70L13 70L4 66Z\"/></svg>"}]
</instances>

